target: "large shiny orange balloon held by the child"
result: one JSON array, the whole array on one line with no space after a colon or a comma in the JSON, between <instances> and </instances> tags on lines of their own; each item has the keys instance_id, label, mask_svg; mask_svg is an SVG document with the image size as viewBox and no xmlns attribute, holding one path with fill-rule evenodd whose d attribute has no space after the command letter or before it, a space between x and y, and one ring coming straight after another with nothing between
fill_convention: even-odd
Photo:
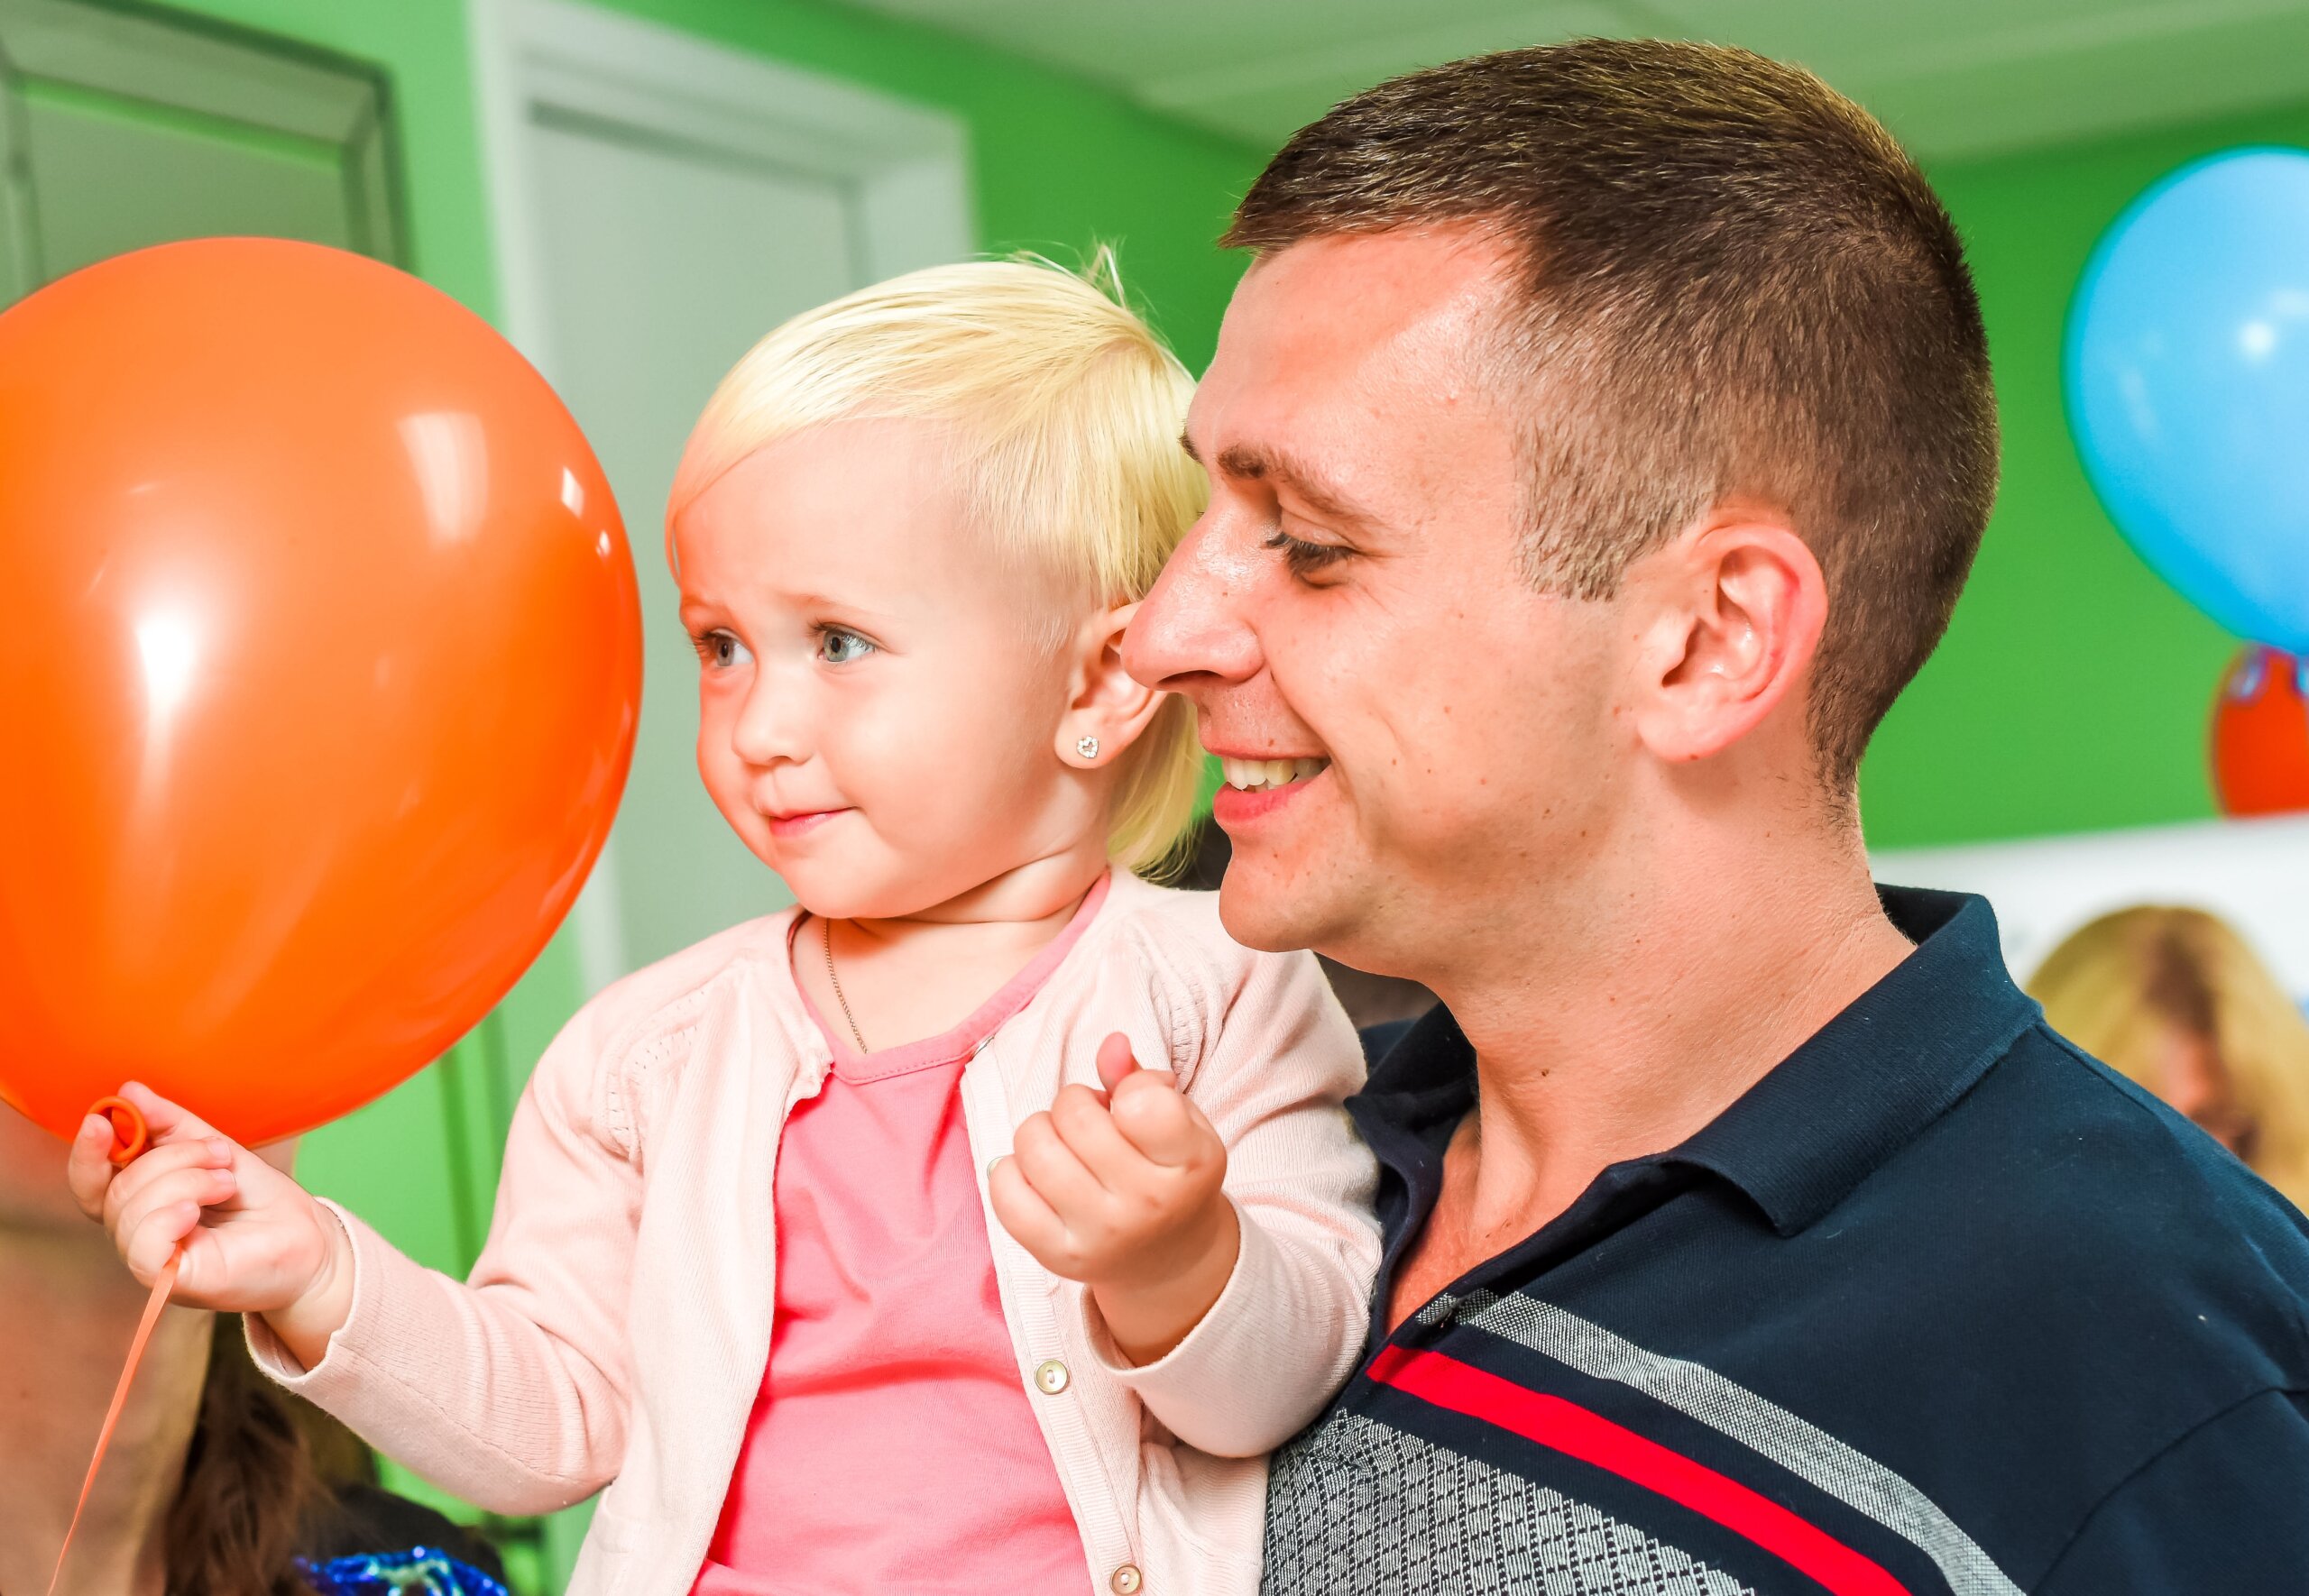
<instances>
[{"instance_id":1,"label":"large shiny orange balloon held by the child","mask_svg":"<svg viewBox=\"0 0 2309 1596\"><path fill-rule=\"evenodd\" d=\"M263 1143L536 959L642 686L610 485L522 358L316 245L0 312L0 1097L136 1079Z\"/></svg>"}]
</instances>

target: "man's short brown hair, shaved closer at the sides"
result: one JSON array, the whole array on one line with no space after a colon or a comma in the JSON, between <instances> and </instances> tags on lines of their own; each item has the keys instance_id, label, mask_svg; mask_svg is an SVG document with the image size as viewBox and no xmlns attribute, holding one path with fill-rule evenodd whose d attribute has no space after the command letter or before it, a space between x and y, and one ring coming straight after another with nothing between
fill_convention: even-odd
<instances>
[{"instance_id":1,"label":"man's short brown hair, shaved closer at the sides","mask_svg":"<svg viewBox=\"0 0 2309 1596\"><path fill-rule=\"evenodd\" d=\"M1609 596L1734 497L1829 582L1810 723L1850 790L1940 642L1997 483L1988 337L1949 212L1819 79L1709 44L1582 39L1413 72L1281 148L1226 245L1478 222L1524 263L1535 582Z\"/></svg>"}]
</instances>

